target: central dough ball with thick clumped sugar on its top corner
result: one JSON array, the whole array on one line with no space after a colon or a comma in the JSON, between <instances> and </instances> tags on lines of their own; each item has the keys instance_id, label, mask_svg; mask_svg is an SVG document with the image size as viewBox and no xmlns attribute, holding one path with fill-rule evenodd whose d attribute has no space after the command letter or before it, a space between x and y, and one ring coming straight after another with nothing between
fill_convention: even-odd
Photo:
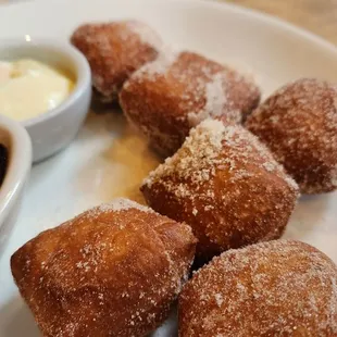
<instances>
[{"instance_id":1,"label":"central dough ball with thick clumped sugar on its top corner","mask_svg":"<svg viewBox=\"0 0 337 337\"><path fill-rule=\"evenodd\" d=\"M140 189L153 210L192 227L199 261L278 238L298 197L296 183L257 137L216 120L191 129Z\"/></svg>"}]
</instances>

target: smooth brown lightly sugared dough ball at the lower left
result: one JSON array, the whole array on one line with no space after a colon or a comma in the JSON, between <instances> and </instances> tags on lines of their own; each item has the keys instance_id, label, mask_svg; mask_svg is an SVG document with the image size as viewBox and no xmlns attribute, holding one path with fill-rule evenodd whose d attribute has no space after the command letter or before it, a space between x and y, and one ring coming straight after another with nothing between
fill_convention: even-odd
<instances>
[{"instance_id":1,"label":"smooth brown lightly sugared dough ball at the lower left","mask_svg":"<svg viewBox=\"0 0 337 337\"><path fill-rule=\"evenodd\" d=\"M126 199L46 230L11 259L43 336L146 336L187 279L190 228Z\"/></svg>"}]
</instances>

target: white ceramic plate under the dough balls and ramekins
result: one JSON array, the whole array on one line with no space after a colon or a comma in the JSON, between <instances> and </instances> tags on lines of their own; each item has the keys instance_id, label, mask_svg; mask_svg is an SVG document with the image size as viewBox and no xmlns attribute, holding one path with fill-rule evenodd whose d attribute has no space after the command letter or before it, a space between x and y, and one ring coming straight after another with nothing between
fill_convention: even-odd
<instances>
[{"instance_id":1,"label":"white ceramic plate under the dough balls and ramekins","mask_svg":"<svg viewBox=\"0 0 337 337\"><path fill-rule=\"evenodd\" d=\"M66 39L86 21L137 17L168 43L200 51L250 71L264 96L290 79L316 76L337 82L337 50L280 21L198 0L40 0L0 8L0 39L30 35ZM0 336L39 336L13 284L13 251L55 226L117 196L139 199L138 187L158 164L121 114L90 115L77 139L59 155L36 165L23 208L0 260ZM337 262L337 194L303 198L286 236L326 252ZM175 336L174 320L155 336ZM171 329L171 332L170 332Z\"/></svg>"}]
</instances>

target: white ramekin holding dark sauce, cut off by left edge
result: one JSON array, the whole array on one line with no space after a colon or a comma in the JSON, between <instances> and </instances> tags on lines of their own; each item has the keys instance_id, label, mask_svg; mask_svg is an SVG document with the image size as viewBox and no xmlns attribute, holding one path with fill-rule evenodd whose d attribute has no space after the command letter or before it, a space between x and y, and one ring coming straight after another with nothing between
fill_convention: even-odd
<instances>
[{"instance_id":1,"label":"white ramekin holding dark sauce, cut off by left edge","mask_svg":"<svg viewBox=\"0 0 337 337\"><path fill-rule=\"evenodd\" d=\"M21 197L32 165L32 145L25 128L0 115L0 143L8 150L8 165L0 186L0 254L14 227Z\"/></svg>"}]
</instances>

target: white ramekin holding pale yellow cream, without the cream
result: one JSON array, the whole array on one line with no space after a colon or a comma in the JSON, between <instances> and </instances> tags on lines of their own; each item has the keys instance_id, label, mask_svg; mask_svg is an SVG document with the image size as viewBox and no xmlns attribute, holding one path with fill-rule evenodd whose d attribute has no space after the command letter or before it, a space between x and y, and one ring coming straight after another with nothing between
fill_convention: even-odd
<instances>
[{"instance_id":1,"label":"white ramekin holding pale yellow cream, without the cream","mask_svg":"<svg viewBox=\"0 0 337 337\"><path fill-rule=\"evenodd\" d=\"M91 73L86 58L70 42L32 37L0 41L0 60L33 59L64 71L75 80L67 99L37 117L23 121L33 145L33 161L66 147L77 135L91 100ZM1 107L0 107L1 113Z\"/></svg>"}]
</instances>

